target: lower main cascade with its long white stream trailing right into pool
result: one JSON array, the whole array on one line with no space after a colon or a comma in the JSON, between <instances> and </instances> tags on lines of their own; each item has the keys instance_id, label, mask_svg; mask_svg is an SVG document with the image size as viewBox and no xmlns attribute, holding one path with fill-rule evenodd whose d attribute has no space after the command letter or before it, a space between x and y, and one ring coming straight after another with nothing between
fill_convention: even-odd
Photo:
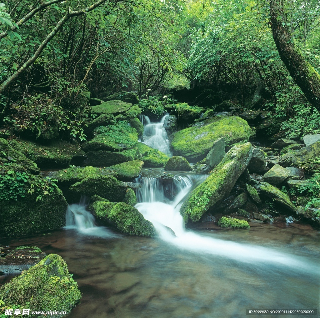
<instances>
[{"instance_id":1,"label":"lower main cascade with its long white stream trailing right into pool","mask_svg":"<svg viewBox=\"0 0 320 318\"><path fill-rule=\"evenodd\" d=\"M178 187L179 191L172 201L165 198L163 186L156 178L143 178L142 188L138 193L140 203L135 207L147 220L152 222L162 240L182 249L194 252L206 252L221 257L228 257L236 261L253 264L257 264L258 262L260 264L275 263L296 270L316 273L318 270L316 264L307 264L302 258L280 250L257 246L256 244L225 241L212 236L187 231L179 210L194 183L196 181L203 181L201 178L204 178L204 176L186 175L178 177L180 181L176 180L175 186ZM165 203L165 201L169 202Z\"/></svg>"}]
</instances>

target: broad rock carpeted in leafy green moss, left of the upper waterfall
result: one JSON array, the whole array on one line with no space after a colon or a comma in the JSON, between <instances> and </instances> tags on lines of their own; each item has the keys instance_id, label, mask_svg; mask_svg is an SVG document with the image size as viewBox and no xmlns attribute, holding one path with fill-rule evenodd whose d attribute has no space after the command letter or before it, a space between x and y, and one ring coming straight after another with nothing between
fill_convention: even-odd
<instances>
[{"instance_id":1,"label":"broad rock carpeted in leafy green moss, left of the upper waterfall","mask_svg":"<svg viewBox=\"0 0 320 318\"><path fill-rule=\"evenodd\" d=\"M115 125L100 126L94 132L97 135L84 143L85 151L123 151L133 148L138 143L137 131L126 121L119 121Z\"/></svg>"}]
</instances>

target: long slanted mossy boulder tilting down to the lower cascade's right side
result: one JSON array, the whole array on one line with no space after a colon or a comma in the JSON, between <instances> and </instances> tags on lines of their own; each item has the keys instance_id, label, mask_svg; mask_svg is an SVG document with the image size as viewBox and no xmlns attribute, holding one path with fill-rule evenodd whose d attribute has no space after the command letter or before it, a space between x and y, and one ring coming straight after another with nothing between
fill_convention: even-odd
<instances>
[{"instance_id":1,"label":"long slanted mossy boulder tilting down to the lower cascade's right side","mask_svg":"<svg viewBox=\"0 0 320 318\"><path fill-rule=\"evenodd\" d=\"M231 148L209 177L189 195L182 205L180 213L184 221L187 223L189 218L193 222L199 221L214 204L227 197L248 166L251 157L251 143Z\"/></svg>"}]
</instances>

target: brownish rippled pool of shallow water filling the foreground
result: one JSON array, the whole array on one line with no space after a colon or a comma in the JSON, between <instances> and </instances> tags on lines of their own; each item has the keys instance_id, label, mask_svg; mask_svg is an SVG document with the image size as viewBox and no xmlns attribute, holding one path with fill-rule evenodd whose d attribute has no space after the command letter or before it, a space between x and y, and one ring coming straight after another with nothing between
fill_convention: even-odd
<instances>
[{"instance_id":1,"label":"brownish rippled pool of shallow water filling the foreground","mask_svg":"<svg viewBox=\"0 0 320 318\"><path fill-rule=\"evenodd\" d=\"M305 269L237 261L160 239L103 231L100 238L64 229L1 243L12 248L36 245L65 259L83 297L70 317L231 318L246 317L246 308L291 307L319 312L319 232L307 225L193 230L212 239L290 254L307 264Z\"/></svg>"}]
</instances>

